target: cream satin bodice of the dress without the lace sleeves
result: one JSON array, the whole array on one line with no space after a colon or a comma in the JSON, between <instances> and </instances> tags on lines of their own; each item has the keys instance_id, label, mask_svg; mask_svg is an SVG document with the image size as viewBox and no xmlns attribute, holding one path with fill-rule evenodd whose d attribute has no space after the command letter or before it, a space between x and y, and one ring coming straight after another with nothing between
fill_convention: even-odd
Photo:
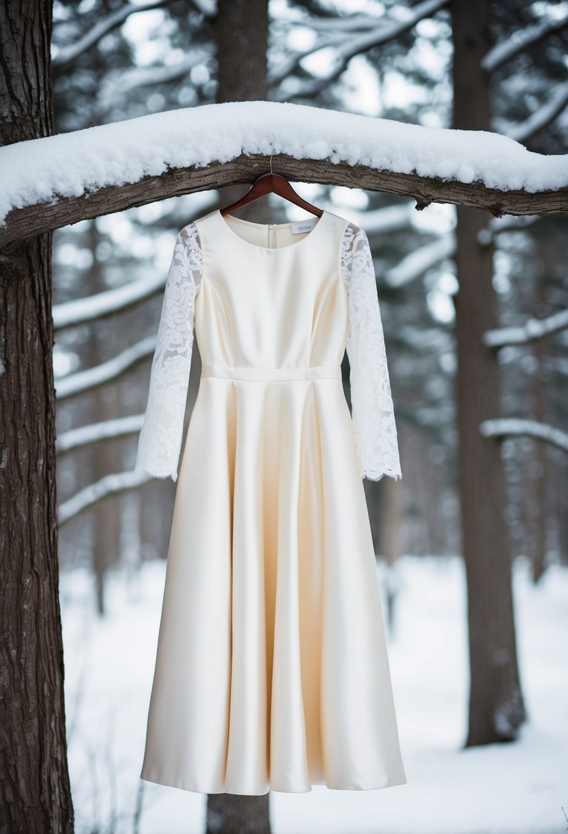
<instances>
[{"instance_id":1,"label":"cream satin bodice of the dress without the lace sleeves","mask_svg":"<svg viewBox=\"0 0 568 834\"><path fill-rule=\"evenodd\" d=\"M203 273L195 333L202 364L267 371L341 365L349 328L340 277L346 222L324 212L290 242L293 224L248 223L219 212L197 220ZM243 227L249 240L240 236ZM274 237L276 246L262 245Z\"/></svg>"}]
</instances>

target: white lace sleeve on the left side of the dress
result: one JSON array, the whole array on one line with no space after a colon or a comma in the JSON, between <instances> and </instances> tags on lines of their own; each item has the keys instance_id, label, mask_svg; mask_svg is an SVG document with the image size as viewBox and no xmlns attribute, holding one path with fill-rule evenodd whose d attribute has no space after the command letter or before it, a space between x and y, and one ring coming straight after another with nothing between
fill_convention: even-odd
<instances>
[{"instance_id":1,"label":"white lace sleeve on the left side of the dress","mask_svg":"<svg viewBox=\"0 0 568 834\"><path fill-rule=\"evenodd\" d=\"M192 364L194 302L202 271L197 226L188 224L177 235L167 274L135 473L177 480Z\"/></svg>"}]
</instances>

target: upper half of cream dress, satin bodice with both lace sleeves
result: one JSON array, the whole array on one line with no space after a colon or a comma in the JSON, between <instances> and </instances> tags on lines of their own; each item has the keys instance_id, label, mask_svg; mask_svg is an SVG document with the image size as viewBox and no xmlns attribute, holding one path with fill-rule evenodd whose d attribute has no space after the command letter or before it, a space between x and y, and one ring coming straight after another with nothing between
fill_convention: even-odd
<instances>
[{"instance_id":1,"label":"upper half of cream dress, satin bodice with both lace sleeves","mask_svg":"<svg viewBox=\"0 0 568 834\"><path fill-rule=\"evenodd\" d=\"M254 224L216 210L177 234L135 473L177 480L193 331L202 378L335 378L350 365L361 477L401 478L371 248L331 212Z\"/></svg>"}]
</instances>

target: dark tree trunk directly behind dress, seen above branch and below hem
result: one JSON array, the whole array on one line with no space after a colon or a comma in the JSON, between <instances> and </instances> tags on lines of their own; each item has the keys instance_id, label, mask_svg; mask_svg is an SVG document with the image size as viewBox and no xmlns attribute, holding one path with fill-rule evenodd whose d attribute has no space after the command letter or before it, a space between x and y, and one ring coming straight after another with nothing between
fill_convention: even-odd
<instances>
[{"instance_id":1,"label":"dark tree trunk directly behind dress, seen above branch and below hem","mask_svg":"<svg viewBox=\"0 0 568 834\"><path fill-rule=\"evenodd\" d=\"M214 21L217 42L217 103L264 101L267 98L267 0L219 0ZM259 175L264 173L258 172ZM247 193L242 185L226 186L220 206ZM239 217L266 222L266 201L255 200L239 209ZM207 796L207 834L270 834L270 793L241 796L213 793Z\"/></svg>"}]
</instances>

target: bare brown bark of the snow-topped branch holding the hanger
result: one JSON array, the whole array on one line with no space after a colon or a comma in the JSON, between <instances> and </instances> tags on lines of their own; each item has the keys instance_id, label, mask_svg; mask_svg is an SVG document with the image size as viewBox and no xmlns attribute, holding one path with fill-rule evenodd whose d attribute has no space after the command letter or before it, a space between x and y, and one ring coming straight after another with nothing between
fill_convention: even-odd
<instances>
[{"instance_id":1,"label":"bare brown bark of the snow-topped branch holding the hanger","mask_svg":"<svg viewBox=\"0 0 568 834\"><path fill-rule=\"evenodd\" d=\"M309 109L306 108L306 118ZM349 119L350 115L341 113ZM359 117L360 118L360 117ZM104 130L107 126L101 125ZM356 130L356 125L353 126ZM267 131L271 129L267 123ZM68 134L67 134L68 138ZM212 138L213 139L213 138ZM377 133L377 142L380 141ZM37 148L37 153L47 153L47 148ZM418 161L416 154L416 162ZM466 160L466 155L464 154ZM168 160L165 160L168 163ZM274 154L273 169L291 182L341 185L346 188L363 188L366 191L385 191L416 200L416 208L426 208L430 203L455 203L456 205L482 208L501 217L503 214L566 214L568 212L568 188L548 188L533 193L521 189L500 191L489 188L481 181L460 183L455 179L425 177L418 173L400 173L351 165L348 162L331 163L329 159L295 159L286 153ZM171 168L163 173L151 174L136 183L120 183L85 189L80 197L60 197L53 194L52 201L33 203L8 212L5 225L0 227L0 249L7 249L18 240L24 240L41 232L60 229L88 220L126 211L134 206L156 203L158 200L207 191L211 188L227 188L237 185L240 193L243 185L250 185L260 173L270 171L270 153L241 153L228 162L212 161L205 168ZM246 189L245 189L246 190Z\"/></svg>"}]
</instances>

